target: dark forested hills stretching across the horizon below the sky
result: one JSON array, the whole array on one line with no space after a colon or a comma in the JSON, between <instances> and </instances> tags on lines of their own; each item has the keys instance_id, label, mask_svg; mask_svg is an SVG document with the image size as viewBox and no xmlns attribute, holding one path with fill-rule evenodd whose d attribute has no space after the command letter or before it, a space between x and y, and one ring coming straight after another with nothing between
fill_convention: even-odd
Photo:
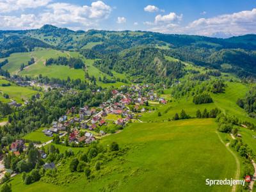
<instances>
[{"instance_id":1,"label":"dark forested hills stretching across the horizon below the sky","mask_svg":"<svg viewBox=\"0 0 256 192\"><path fill-rule=\"evenodd\" d=\"M256 35L223 39L146 31L72 31L51 25L24 31L0 31L1 58L35 47L79 51L87 58L100 58L102 60L95 66L109 74L112 69L134 74L136 69L154 76L173 77L173 65L163 59L163 56L172 56L239 76L256 76ZM149 69L153 66L154 71Z\"/></svg>"}]
</instances>

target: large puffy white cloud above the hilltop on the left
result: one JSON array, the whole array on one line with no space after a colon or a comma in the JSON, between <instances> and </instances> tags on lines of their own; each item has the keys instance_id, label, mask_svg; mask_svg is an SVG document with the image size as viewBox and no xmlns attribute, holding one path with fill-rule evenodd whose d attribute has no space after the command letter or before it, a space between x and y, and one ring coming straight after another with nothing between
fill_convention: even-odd
<instances>
[{"instance_id":1,"label":"large puffy white cloud above the hilltop on the left","mask_svg":"<svg viewBox=\"0 0 256 192\"><path fill-rule=\"evenodd\" d=\"M0 0L1 1L1 0ZM0 16L0 28L28 29L53 24L72 29L96 28L101 20L107 19L112 8L102 1L91 6L77 6L70 3L48 4L38 15ZM13 20L13 22L12 22Z\"/></svg>"}]
</instances>

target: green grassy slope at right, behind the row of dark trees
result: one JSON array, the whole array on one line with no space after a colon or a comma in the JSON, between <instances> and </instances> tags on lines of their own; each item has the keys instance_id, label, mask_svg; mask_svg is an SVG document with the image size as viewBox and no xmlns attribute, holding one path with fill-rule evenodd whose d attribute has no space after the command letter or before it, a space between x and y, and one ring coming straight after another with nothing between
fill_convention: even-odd
<instances>
[{"instance_id":1,"label":"green grassy slope at right, behind the row of dark trees","mask_svg":"<svg viewBox=\"0 0 256 192\"><path fill-rule=\"evenodd\" d=\"M175 113L180 113L182 109L190 116L195 116L196 110L203 111L205 108L211 110L213 108L220 108L223 113L227 115L235 115L240 120L248 120L256 123L256 120L250 118L244 109L237 106L236 101L238 98L243 98L245 93L249 90L248 86L242 83L227 83L225 93L211 94L213 103L199 104L193 103L193 98L181 98L179 100L173 100L166 105L157 106L157 110L151 113L144 113L141 116L141 120L168 120L172 119ZM158 112L161 112L161 116L158 116Z\"/></svg>"}]
</instances>

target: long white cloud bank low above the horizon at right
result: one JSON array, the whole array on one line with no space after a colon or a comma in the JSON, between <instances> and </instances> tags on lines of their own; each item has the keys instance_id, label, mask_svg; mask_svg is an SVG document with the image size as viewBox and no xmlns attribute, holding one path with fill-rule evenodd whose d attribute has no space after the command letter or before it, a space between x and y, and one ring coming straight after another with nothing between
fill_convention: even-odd
<instances>
[{"instance_id":1,"label":"long white cloud bank low above the horizon at right","mask_svg":"<svg viewBox=\"0 0 256 192\"><path fill-rule=\"evenodd\" d=\"M155 22L144 22L144 24L151 26L151 28L148 29L149 31L156 31L160 33L219 37L256 33L256 8L249 11L218 15L208 19L200 18L190 22L187 26L181 26L179 22L165 22L166 20L175 20L175 18L177 17L172 17L169 14L168 17L161 16L159 19L155 19ZM159 22L156 22L156 20L159 20Z\"/></svg>"}]
</instances>

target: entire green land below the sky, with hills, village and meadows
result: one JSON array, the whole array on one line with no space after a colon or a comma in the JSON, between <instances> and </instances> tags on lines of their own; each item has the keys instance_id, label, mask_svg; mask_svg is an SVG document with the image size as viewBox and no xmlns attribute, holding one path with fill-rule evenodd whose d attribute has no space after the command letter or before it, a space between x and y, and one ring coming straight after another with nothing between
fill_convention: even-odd
<instances>
[{"instance_id":1,"label":"entire green land below the sky, with hills, village and meadows","mask_svg":"<svg viewBox=\"0 0 256 192\"><path fill-rule=\"evenodd\" d=\"M255 35L0 34L1 191L256 191Z\"/></svg>"}]
</instances>

